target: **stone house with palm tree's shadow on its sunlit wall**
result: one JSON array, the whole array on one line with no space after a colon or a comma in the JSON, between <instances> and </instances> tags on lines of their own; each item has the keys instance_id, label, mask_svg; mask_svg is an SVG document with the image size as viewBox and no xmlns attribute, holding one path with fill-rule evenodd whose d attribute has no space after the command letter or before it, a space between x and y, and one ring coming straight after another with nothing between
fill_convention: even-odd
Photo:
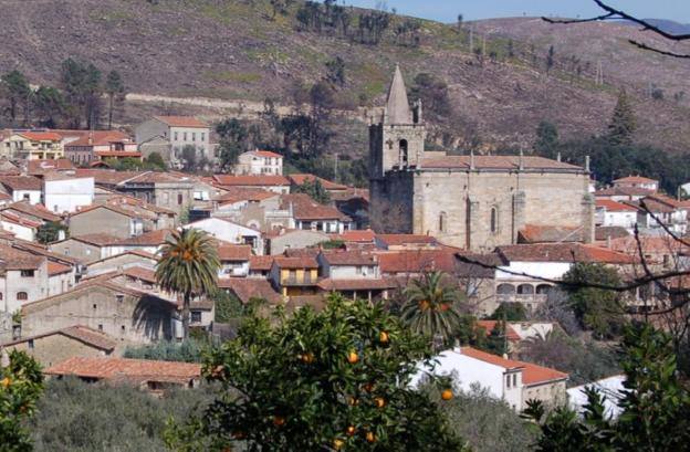
<instances>
[{"instance_id":1,"label":"stone house with palm tree's shadow on its sunlit wall","mask_svg":"<svg viewBox=\"0 0 690 452\"><path fill-rule=\"evenodd\" d=\"M60 295L21 306L22 334L40 335L83 325L127 344L178 337L178 305L115 282L81 283Z\"/></svg>"}]
</instances>

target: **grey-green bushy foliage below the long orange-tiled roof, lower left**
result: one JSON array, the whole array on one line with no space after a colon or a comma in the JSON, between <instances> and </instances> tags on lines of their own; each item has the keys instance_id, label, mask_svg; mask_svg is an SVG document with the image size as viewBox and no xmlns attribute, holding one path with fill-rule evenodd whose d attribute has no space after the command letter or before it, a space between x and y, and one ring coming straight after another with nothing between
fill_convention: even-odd
<instances>
[{"instance_id":1,"label":"grey-green bushy foliage below the long orange-tiled roof, lower left","mask_svg":"<svg viewBox=\"0 0 690 452\"><path fill-rule=\"evenodd\" d=\"M51 380L31 422L35 451L167 451L167 420L186 419L210 400L205 386L157 398L133 387Z\"/></svg>"}]
</instances>

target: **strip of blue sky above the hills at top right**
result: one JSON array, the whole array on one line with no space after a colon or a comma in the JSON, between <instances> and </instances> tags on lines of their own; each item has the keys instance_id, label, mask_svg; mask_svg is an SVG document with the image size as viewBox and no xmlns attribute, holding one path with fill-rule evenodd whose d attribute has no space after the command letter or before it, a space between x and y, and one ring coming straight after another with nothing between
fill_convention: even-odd
<instances>
[{"instance_id":1,"label":"strip of blue sky above the hills at top right","mask_svg":"<svg viewBox=\"0 0 690 452\"><path fill-rule=\"evenodd\" d=\"M374 8L381 0L344 0L346 4ZM338 0L343 3L343 0ZM464 20L515 15L598 15L602 10L592 0L385 0L388 9L401 14L454 22L458 14ZM690 0L609 0L640 18L672 19L690 23Z\"/></svg>"}]
</instances>

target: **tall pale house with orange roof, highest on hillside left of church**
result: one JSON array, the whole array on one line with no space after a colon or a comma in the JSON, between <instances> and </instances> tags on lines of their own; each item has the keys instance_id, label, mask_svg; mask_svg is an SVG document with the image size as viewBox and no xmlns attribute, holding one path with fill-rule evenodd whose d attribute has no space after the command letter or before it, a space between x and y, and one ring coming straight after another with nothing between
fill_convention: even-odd
<instances>
[{"instance_id":1,"label":"tall pale house with orange roof, highest on hillside left of church","mask_svg":"<svg viewBox=\"0 0 690 452\"><path fill-rule=\"evenodd\" d=\"M198 158L212 160L210 135L209 125L191 116L154 116L135 129L136 143L145 157L158 153L172 166L181 162L186 147L195 149Z\"/></svg>"}]
</instances>

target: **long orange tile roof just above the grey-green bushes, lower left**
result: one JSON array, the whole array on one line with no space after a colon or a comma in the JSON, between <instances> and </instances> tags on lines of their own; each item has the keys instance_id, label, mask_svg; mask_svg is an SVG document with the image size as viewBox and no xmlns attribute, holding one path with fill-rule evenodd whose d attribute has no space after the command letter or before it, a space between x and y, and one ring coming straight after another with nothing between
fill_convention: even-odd
<instances>
[{"instance_id":1,"label":"long orange tile roof just above the grey-green bushes, lower left","mask_svg":"<svg viewBox=\"0 0 690 452\"><path fill-rule=\"evenodd\" d=\"M201 365L126 358L72 357L43 371L46 375L74 375L82 378L134 378L154 381L186 381L201 377Z\"/></svg>"}]
</instances>

